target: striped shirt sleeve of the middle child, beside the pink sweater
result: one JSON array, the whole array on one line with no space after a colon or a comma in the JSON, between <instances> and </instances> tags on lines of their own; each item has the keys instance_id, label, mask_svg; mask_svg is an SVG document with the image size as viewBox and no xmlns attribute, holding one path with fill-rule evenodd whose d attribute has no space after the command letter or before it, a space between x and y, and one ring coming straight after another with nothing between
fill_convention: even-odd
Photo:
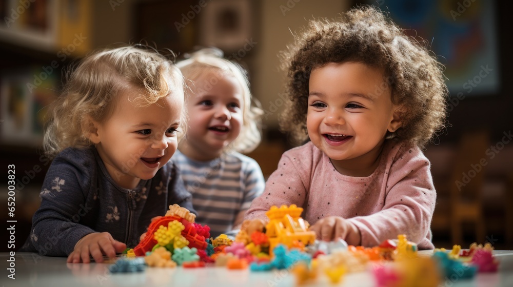
<instances>
[{"instance_id":1,"label":"striped shirt sleeve of the middle child, beside the pink sweater","mask_svg":"<svg viewBox=\"0 0 513 287\"><path fill-rule=\"evenodd\" d=\"M247 164L244 167L243 180L244 198L242 199L241 209L235 216L235 221L233 222L233 229L240 228L242 221L244 221L244 215L251 206L251 202L253 202L253 200L260 196L264 191L265 179L257 161L251 158L248 159Z\"/></svg>"}]
</instances>

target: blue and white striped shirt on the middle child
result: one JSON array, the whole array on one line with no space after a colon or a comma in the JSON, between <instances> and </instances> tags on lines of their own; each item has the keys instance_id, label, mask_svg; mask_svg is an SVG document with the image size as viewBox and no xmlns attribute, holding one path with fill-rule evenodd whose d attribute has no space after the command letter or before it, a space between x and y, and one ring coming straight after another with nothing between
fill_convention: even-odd
<instances>
[{"instance_id":1,"label":"blue and white striped shirt on the middle child","mask_svg":"<svg viewBox=\"0 0 513 287\"><path fill-rule=\"evenodd\" d=\"M172 160L192 195L192 205L198 212L196 222L207 224L214 238L239 229L251 201L265 188L257 161L240 153L197 161L176 151Z\"/></svg>"}]
</instances>

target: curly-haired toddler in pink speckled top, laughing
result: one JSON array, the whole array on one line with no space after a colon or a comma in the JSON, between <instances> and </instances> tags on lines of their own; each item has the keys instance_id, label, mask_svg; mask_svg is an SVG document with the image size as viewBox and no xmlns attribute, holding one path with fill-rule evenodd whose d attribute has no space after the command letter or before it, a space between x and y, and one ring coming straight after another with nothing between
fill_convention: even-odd
<instances>
[{"instance_id":1,"label":"curly-haired toddler in pink speckled top, laughing","mask_svg":"<svg viewBox=\"0 0 513 287\"><path fill-rule=\"evenodd\" d=\"M442 66L374 8L314 20L284 53L285 152L246 219L296 204L322 240L367 247L406 234L432 249L436 191L423 148L444 128ZM306 132L306 133L305 133Z\"/></svg>"}]
</instances>

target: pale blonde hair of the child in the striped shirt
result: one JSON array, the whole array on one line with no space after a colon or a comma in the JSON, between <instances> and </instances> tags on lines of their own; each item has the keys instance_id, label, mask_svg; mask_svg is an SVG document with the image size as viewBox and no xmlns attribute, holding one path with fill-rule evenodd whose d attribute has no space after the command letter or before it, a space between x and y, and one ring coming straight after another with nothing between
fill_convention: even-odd
<instances>
[{"instance_id":1,"label":"pale blonde hair of the child in the striped shirt","mask_svg":"<svg viewBox=\"0 0 513 287\"><path fill-rule=\"evenodd\" d=\"M194 80L197 80L207 69L213 69L221 72L221 75L233 77L239 83L244 100L242 103L243 125L241 133L227 149L240 153L253 151L262 140L260 126L263 110L260 108L260 102L251 95L246 70L239 64L223 58L223 52L216 48L201 49L186 56L188 56L187 59L176 63L186 79L186 85L193 86ZM214 85L215 83L210 84ZM186 88L185 94L186 98L189 98L193 94L192 89Z\"/></svg>"}]
</instances>

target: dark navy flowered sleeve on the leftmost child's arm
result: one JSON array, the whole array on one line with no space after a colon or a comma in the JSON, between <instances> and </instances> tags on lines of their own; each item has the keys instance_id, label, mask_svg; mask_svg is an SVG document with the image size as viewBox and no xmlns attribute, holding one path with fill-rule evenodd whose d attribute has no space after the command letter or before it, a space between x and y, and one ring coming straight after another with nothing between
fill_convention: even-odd
<instances>
[{"instance_id":1,"label":"dark navy flowered sleeve on the leftmost child's arm","mask_svg":"<svg viewBox=\"0 0 513 287\"><path fill-rule=\"evenodd\" d=\"M42 255L68 256L78 240L95 232L76 223L90 210L84 183L90 182L85 170L92 162L74 161L66 153L53 160L43 182L41 206L32 218L30 240Z\"/></svg>"}]
</instances>

